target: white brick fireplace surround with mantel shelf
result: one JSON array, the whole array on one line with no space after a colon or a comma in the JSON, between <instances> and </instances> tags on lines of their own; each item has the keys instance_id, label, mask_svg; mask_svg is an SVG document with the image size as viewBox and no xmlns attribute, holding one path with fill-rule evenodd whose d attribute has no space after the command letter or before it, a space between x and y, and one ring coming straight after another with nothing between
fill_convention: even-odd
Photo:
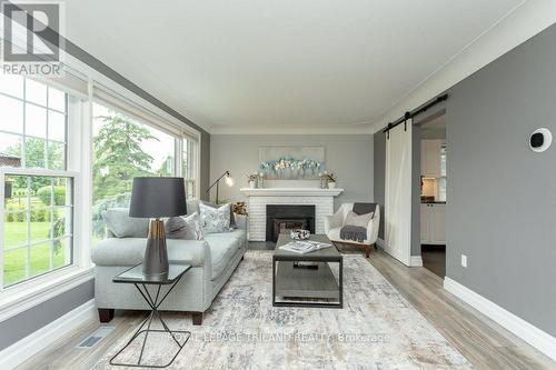
<instances>
[{"instance_id":1,"label":"white brick fireplace surround with mantel shelf","mask_svg":"<svg viewBox=\"0 0 556 370\"><path fill-rule=\"evenodd\" d=\"M325 216L334 213L334 197L344 189L268 188L240 190L247 198L250 241L265 241L267 232L267 204L315 206L315 231L325 232Z\"/></svg>"}]
</instances>

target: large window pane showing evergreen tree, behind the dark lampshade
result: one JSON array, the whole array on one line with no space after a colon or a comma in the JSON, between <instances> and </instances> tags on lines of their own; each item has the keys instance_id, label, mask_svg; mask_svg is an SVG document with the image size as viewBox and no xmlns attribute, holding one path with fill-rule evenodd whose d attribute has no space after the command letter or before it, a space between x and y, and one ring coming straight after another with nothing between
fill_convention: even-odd
<instances>
[{"instance_id":1,"label":"large window pane showing evergreen tree, behind the dark lampshade","mask_svg":"<svg viewBox=\"0 0 556 370\"><path fill-rule=\"evenodd\" d=\"M93 104L93 241L106 236L102 211L129 207L139 176L176 176L176 138L102 104Z\"/></svg>"}]
</instances>

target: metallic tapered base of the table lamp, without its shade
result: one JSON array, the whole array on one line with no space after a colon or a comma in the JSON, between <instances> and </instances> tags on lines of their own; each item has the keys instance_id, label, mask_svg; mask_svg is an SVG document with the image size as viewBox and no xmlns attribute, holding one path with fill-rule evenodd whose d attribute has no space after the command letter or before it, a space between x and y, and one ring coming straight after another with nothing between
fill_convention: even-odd
<instances>
[{"instance_id":1,"label":"metallic tapered base of the table lamp, without its shade","mask_svg":"<svg viewBox=\"0 0 556 370\"><path fill-rule=\"evenodd\" d=\"M160 219L151 220L142 273L146 277L160 278L168 273L168 269L165 223Z\"/></svg>"}]
</instances>

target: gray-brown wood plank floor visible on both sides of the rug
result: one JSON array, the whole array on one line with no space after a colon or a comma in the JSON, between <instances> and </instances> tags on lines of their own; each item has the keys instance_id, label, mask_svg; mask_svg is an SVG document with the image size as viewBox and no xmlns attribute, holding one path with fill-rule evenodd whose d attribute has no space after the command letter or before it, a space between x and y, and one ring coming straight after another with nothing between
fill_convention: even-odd
<instances>
[{"instance_id":1,"label":"gray-brown wood plank floor visible on both sides of the rug","mask_svg":"<svg viewBox=\"0 0 556 370\"><path fill-rule=\"evenodd\" d=\"M556 363L443 289L443 280L425 268L407 268L373 250L368 261L477 369L556 369ZM92 349L76 346L99 328L90 322L23 363L20 369L90 369L122 334L133 330L142 312L118 312L116 329Z\"/></svg>"}]
</instances>

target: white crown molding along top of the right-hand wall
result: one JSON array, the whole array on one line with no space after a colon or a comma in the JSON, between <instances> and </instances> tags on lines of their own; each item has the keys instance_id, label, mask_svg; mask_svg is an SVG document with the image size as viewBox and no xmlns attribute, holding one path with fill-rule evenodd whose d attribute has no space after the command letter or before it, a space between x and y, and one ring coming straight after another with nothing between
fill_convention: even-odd
<instances>
[{"instance_id":1,"label":"white crown molding along top of the right-hand wall","mask_svg":"<svg viewBox=\"0 0 556 370\"><path fill-rule=\"evenodd\" d=\"M554 23L556 23L556 1L522 2L387 109L371 124L371 132L377 132L388 122L404 116L407 110L444 93Z\"/></svg>"}]
</instances>

